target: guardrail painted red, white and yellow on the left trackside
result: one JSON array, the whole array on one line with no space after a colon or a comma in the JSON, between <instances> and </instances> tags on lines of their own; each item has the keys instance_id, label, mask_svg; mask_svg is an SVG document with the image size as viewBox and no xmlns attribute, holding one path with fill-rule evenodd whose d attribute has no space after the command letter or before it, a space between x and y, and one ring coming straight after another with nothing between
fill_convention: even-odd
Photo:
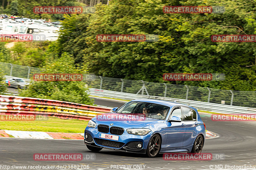
<instances>
[{"instance_id":1,"label":"guardrail painted red, white and yellow on the left trackside","mask_svg":"<svg viewBox=\"0 0 256 170\"><path fill-rule=\"evenodd\" d=\"M6 114L46 114L60 118L90 120L97 114L107 113L110 110L105 107L59 100L0 95L0 112Z\"/></svg>"}]
</instances>

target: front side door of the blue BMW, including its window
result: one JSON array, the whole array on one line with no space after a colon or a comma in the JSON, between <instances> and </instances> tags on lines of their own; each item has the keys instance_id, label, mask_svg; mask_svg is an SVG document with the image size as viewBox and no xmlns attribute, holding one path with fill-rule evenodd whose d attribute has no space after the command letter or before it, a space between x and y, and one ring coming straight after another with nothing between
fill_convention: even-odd
<instances>
[{"instance_id":1,"label":"front side door of the blue BMW, including its window","mask_svg":"<svg viewBox=\"0 0 256 170\"><path fill-rule=\"evenodd\" d=\"M169 120L172 116L177 116L182 119L181 107L174 107L172 109ZM166 148L181 148L183 145L185 127L183 122L167 122L167 141Z\"/></svg>"}]
</instances>

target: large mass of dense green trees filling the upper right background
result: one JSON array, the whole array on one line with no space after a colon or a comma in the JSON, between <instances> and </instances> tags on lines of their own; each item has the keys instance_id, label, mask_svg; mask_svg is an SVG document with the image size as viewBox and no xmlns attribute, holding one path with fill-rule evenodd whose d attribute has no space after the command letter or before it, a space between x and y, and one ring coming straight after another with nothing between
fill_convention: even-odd
<instances>
[{"instance_id":1,"label":"large mass of dense green trees filling the upper right background","mask_svg":"<svg viewBox=\"0 0 256 170\"><path fill-rule=\"evenodd\" d=\"M171 5L225 6L225 12L163 13L163 6ZM225 81L167 83L255 91L255 43L216 43L210 38L255 34L253 11L255 2L242 0L111 0L109 5L96 5L93 14L65 16L59 47L100 76L163 83L163 73L224 73ZM160 40L97 42L97 34L158 34Z\"/></svg>"}]
</instances>

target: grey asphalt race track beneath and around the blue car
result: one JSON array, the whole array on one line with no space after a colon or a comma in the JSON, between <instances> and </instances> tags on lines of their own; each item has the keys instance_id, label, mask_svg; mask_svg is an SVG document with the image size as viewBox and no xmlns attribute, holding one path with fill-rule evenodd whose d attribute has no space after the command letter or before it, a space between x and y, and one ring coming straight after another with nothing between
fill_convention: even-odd
<instances>
[{"instance_id":1,"label":"grey asphalt race track beneath and around the blue car","mask_svg":"<svg viewBox=\"0 0 256 170\"><path fill-rule=\"evenodd\" d=\"M95 98L95 104L120 107L123 102ZM256 166L255 122L213 122L210 115L200 115L206 124L206 129L219 135L219 137L207 139L205 141L203 153L224 154L224 159L201 161L163 160L163 154L160 154L156 158L147 158L145 155L141 154L118 152L108 149L103 149L98 153L91 152L86 148L83 140L21 139L3 137L0 138L0 169L7 169L3 168L3 165L89 165L89 169L91 170L117 169L114 168L114 165L132 165L131 169L135 167L134 165L142 165L142 168L137 169L147 170L221 169L216 168L215 165L222 165L222 169L237 169L232 168L234 165ZM84 125L84 127L85 126L86 125ZM35 161L33 159L35 153L82 153L85 159L82 161ZM92 156L92 159L86 159L86 155ZM225 165L231 167L225 168ZM18 169L23 170L25 168ZM120 169L120 167L118 167L118 169Z\"/></svg>"}]
</instances>

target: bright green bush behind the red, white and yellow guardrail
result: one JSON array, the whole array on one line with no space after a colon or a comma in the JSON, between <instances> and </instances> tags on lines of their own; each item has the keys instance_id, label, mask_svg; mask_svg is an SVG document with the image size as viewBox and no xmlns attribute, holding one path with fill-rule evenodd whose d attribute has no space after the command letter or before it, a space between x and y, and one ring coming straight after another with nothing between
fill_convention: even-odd
<instances>
[{"instance_id":1,"label":"bright green bush behind the red, white and yellow guardrail","mask_svg":"<svg viewBox=\"0 0 256 170\"><path fill-rule=\"evenodd\" d=\"M73 57L67 53L59 58L46 58L42 70L42 73L87 73L85 66L76 68ZM20 92L20 96L92 105L93 100L88 97L86 90L88 88L83 81L32 81L28 89Z\"/></svg>"}]
</instances>

